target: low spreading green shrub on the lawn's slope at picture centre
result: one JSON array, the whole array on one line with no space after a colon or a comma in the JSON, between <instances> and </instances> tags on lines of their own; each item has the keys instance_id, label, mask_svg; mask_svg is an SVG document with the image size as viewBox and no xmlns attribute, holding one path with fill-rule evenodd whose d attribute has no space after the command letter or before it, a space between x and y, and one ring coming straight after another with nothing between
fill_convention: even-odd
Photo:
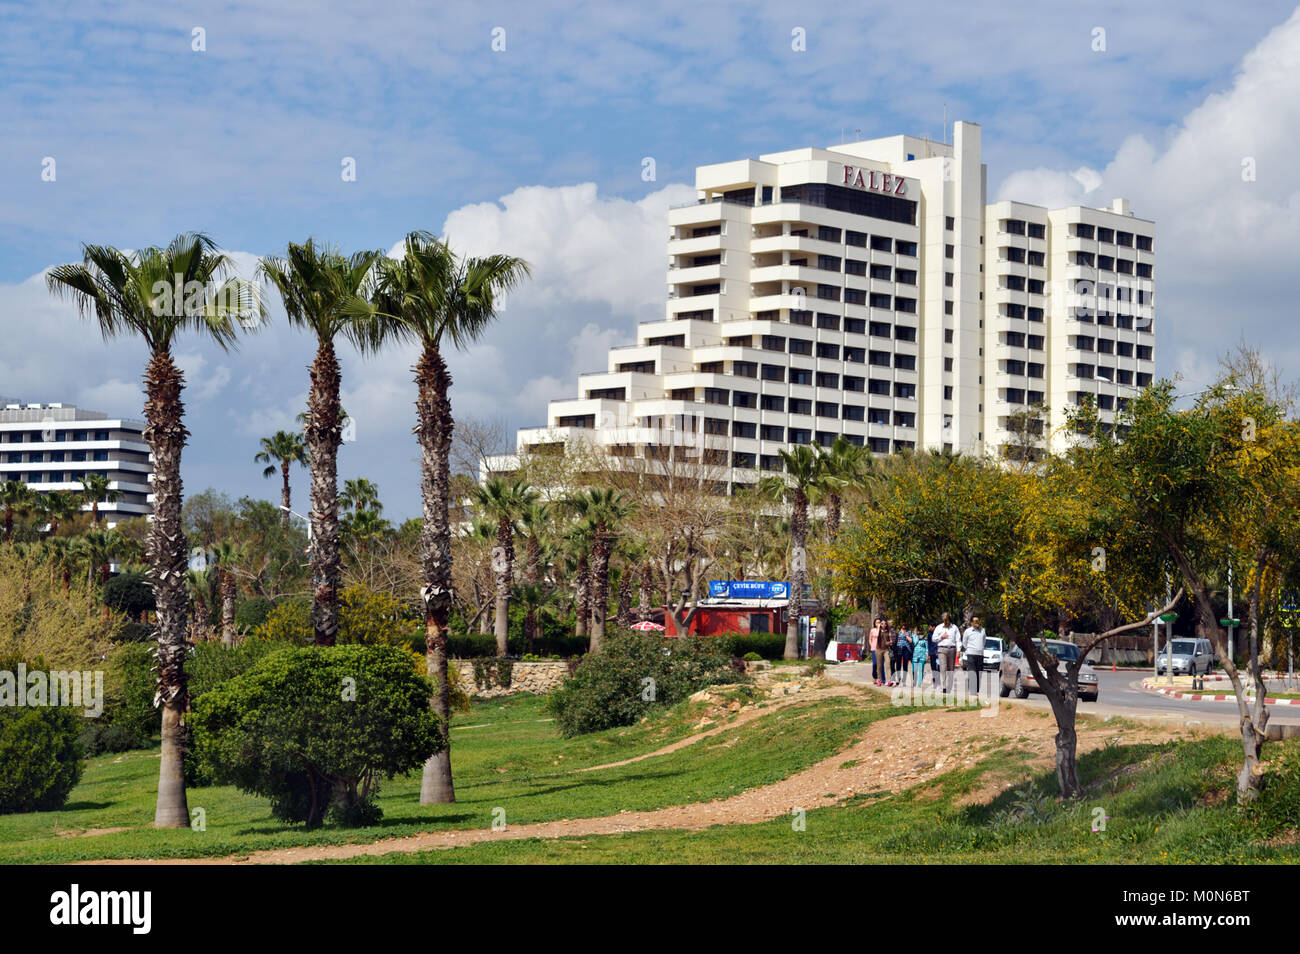
<instances>
[{"instance_id":1,"label":"low spreading green shrub on the lawn's slope at picture centre","mask_svg":"<svg viewBox=\"0 0 1300 954\"><path fill-rule=\"evenodd\" d=\"M664 639L623 633L551 693L550 710L567 737L632 725L654 706L672 706L703 686L744 678L711 637Z\"/></svg>"}]
</instances>

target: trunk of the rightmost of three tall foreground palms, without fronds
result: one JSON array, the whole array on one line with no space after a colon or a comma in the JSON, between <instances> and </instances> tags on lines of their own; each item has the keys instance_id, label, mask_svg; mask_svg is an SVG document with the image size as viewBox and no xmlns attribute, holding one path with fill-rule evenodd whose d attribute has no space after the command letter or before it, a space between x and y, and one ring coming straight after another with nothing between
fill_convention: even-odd
<instances>
[{"instance_id":1,"label":"trunk of the rightmost of three tall foreground palms, without fronds","mask_svg":"<svg viewBox=\"0 0 1300 954\"><path fill-rule=\"evenodd\" d=\"M430 701L442 720L446 745L424 763L420 805L455 802L451 781L451 686L447 681L447 619L451 615L451 374L436 347L425 343L415 367L416 435L424 496L420 564L425 584L425 671L434 684Z\"/></svg>"}]
</instances>

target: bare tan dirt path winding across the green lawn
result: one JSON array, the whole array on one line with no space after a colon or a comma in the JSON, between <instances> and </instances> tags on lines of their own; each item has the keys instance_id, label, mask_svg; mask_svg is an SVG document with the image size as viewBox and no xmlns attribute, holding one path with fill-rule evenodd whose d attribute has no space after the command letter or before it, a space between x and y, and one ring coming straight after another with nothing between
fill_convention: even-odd
<instances>
[{"instance_id":1,"label":"bare tan dirt path winding across the green lawn","mask_svg":"<svg viewBox=\"0 0 1300 954\"><path fill-rule=\"evenodd\" d=\"M820 691L820 690L818 690ZM838 693L836 693L838 694ZM790 702L812 698L812 693L790 698ZM772 711L758 710L751 716ZM706 733L666 746L664 754L702 737L733 728L740 721L719 725ZM384 855L393 851L426 851L485 841L517 838L562 838L567 836L618 834L651 829L698 831L719 824L754 824L796 808L819 808L835 805L858 793L888 794L927 781L954 768L974 766L993 749L1009 747L1022 756L1024 773L1043 771L1052 764L1053 741L1050 716L1024 707L1002 706L992 719L975 711L933 710L874 723L866 734L848 749L810 766L774 785L741 792L729 798L692 805L676 805L651 811L623 811L618 815L586 819L563 819L537 824L510 825L502 831L467 829L421 832L402 838L385 838L359 845L312 845L295 849L270 849L248 855L226 858L166 859L157 862L118 860L86 862L92 864L292 864L321 859L347 859ZM1117 729L1105 724L1080 725L1079 751L1089 751L1108 740L1123 743L1166 741L1176 737L1162 727ZM638 756L638 759L650 755ZM636 760L636 759L629 759ZM625 764L625 763L611 763ZM581 771L581 769L580 769ZM971 793L962 802L987 798L1015 780L989 780L985 790Z\"/></svg>"}]
</instances>

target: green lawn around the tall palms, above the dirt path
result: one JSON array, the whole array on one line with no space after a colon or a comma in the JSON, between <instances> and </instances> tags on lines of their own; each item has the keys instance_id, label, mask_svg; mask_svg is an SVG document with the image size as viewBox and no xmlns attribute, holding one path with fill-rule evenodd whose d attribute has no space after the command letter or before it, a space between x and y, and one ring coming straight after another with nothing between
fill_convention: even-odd
<instances>
[{"instance_id":1,"label":"green lawn around the tall palms, above the dirt path","mask_svg":"<svg viewBox=\"0 0 1300 954\"><path fill-rule=\"evenodd\" d=\"M737 691L737 690L732 690ZM0 816L0 862L177 858L257 849L374 841L430 829L612 815L725 797L770 785L853 742L875 719L897 715L884 697L832 698L772 712L668 758L618 768L571 769L654 751L696 730L702 706L684 703L653 721L576 740L559 736L537 697L477 702L452 728L454 805L420 806L419 773L385 782L378 827L304 831L272 818L265 799L228 786L191 789L205 831L155 831L157 750L87 763L58 811ZM124 832L79 834L91 829Z\"/></svg>"}]
</instances>

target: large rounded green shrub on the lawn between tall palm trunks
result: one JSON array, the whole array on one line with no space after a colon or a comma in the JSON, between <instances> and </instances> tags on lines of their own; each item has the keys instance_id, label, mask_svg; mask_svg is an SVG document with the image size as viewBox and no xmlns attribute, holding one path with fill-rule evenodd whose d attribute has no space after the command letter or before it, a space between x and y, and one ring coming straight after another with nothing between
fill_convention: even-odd
<instances>
[{"instance_id":1,"label":"large rounded green shrub on the lawn between tall palm trunks","mask_svg":"<svg viewBox=\"0 0 1300 954\"><path fill-rule=\"evenodd\" d=\"M373 824L378 780L447 743L430 694L400 649L286 649L199 697L191 741L204 771L283 821Z\"/></svg>"}]
</instances>

